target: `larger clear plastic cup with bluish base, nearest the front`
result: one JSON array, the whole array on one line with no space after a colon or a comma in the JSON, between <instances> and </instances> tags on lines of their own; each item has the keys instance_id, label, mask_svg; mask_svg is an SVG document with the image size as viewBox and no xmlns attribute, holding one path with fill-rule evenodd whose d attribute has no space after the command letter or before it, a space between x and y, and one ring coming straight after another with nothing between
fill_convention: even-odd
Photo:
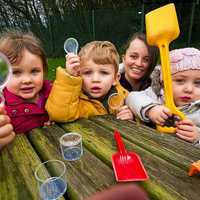
<instances>
[{"instance_id":1,"label":"larger clear plastic cup with bluish base, nearest the front","mask_svg":"<svg viewBox=\"0 0 200 200\"><path fill-rule=\"evenodd\" d=\"M52 176L49 171L55 171ZM39 194L43 200L56 200L67 190L66 166L60 160L48 160L39 164L35 170Z\"/></svg>"}]
</instances>

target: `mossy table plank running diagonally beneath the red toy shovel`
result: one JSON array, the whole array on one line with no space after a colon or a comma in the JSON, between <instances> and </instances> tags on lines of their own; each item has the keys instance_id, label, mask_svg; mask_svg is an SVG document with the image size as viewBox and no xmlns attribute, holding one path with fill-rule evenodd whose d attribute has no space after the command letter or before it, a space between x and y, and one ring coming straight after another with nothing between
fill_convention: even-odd
<instances>
[{"instance_id":1,"label":"mossy table plank running diagonally beneath the red toy shovel","mask_svg":"<svg viewBox=\"0 0 200 200\"><path fill-rule=\"evenodd\" d=\"M105 125L106 122L104 122ZM74 123L64 124L67 131L80 132L87 148L111 166L111 155L115 152L115 142L112 132L90 120L79 120ZM162 157L125 140L127 149L136 151L141 155L143 163L148 170L151 180L144 183L151 198L157 199L197 199L199 194L199 179L189 178L187 173L169 163ZM156 189L157 188L157 189ZM168 195L168 196L167 196Z\"/></svg>"}]
</instances>

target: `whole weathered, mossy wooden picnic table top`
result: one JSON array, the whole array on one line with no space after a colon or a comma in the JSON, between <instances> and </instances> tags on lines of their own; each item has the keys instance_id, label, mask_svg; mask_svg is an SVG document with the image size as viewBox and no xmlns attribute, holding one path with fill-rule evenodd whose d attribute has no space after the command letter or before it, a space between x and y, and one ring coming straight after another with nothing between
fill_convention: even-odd
<instances>
[{"instance_id":1,"label":"whole weathered, mossy wooden picnic table top","mask_svg":"<svg viewBox=\"0 0 200 200\"><path fill-rule=\"evenodd\" d=\"M59 138L71 131L82 135L84 153L78 161L64 161L70 199L84 199L116 184L111 165L111 156L117 150L115 128L127 150L135 151L142 159L150 179L137 184L145 188L150 199L200 199L200 175L187 175L190 164L200 159L200 149L173 134L161 134L142 124L107 115L18 135L0 153L0 200L40 199L34 171L41 162L62 160ZM56 170L47 172L56 175Z\"/></svg>"}]
</instances>

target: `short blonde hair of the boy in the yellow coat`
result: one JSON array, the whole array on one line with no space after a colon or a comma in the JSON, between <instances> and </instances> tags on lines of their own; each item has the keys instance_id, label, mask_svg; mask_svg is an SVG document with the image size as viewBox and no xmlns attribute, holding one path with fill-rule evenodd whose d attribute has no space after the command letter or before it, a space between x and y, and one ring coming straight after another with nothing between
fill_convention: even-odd
<instances>
[{"instance_id":1,"label":"short blonde hair of the boy in the yellow coat","mask_svg":"<svg viewBox=\"0 0 200 200\"><path fill-rule=\"evenodd\" d=\"M93 41L87 43L79 52L81 63L92 60L96 64L112 64L118 73L119 54L116 47L109 41Z\"/></svg>"}]
</instances>

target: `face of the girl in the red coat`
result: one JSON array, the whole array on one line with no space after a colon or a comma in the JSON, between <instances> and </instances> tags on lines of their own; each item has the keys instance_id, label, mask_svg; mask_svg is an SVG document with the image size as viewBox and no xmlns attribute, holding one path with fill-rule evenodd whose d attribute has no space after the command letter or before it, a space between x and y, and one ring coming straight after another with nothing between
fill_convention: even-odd
<instances>
[{"instance_id":1,"label":"face of the girl in the red coat","mask_svg":"<svg viewBox=\"0 0 200 200\"><path fill-rule=\"evenodd\" d=\"M20 62L12 65L12 71L7 89L25 100L36 102L44 79L41 58L25 49Z\"/></svg>"}]
</instances>

